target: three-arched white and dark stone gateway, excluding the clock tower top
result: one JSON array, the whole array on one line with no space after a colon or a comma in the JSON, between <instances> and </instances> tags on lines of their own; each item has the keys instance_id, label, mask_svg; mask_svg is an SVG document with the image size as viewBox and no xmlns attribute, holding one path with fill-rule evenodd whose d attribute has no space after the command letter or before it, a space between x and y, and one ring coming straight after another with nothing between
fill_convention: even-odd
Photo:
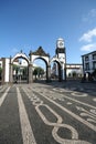
<instances>
[{"instance_id":1,"label":"three-arched white and dark stone gateway, excluding the clock tower top","mask_svg":"<svg viewBox=\"0 0 96 144\"><path fill-rule=\"evenodd\" d=\"M53 56L52 59L50 59L50 54L45 53L44 50L42 49L42 47L39 47L39 49L34 52L30 51L29 56L25 55L25 53L23 53L22 51L17 53L13 58L10 56L10 62L9 62L9 82L12 83L13 82L13 78L12 78L12 65L13 65L13 61L15 59L22 58L28 62L28 83L32 83L33 82L33 62L36 59L42 59L45 62L46 65L46 82L51 81L51 63L52 62L56 62L57 63L57 68L58 68L58 81L65 80L65 61L61 61L61 59L58 58L58 55L56 54L55 56Z\"/></svg>"}]
</instances>

